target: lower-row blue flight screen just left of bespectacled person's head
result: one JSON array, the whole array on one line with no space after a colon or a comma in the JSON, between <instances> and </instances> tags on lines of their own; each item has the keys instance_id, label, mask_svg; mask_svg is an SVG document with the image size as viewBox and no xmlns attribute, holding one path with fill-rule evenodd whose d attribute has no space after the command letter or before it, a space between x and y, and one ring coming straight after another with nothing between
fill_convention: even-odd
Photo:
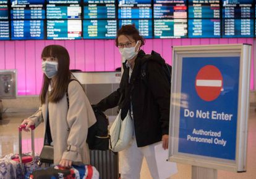
<instances>
[{"instance_id":1,"label":"lower-row blue flight screen just left of bespectacled person's head","mask_svg":"<svg viewBox=\"0 0 256 179\"><path fill-rule=\"evenodd\" d=\"M116 20L83 20L83 39L114 39L116 32Z\"/></svg>"}]
</instances>

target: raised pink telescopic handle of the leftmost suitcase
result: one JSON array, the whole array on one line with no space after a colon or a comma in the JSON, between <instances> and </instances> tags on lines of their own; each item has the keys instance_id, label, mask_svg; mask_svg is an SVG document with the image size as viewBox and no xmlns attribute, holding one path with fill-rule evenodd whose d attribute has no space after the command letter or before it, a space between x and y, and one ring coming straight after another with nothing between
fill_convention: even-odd
<instances>
[{"instance_id":1,"label":"raised pink telescopic handle of the leftmost suitcase","mask_svg":"<svg viewBox=\"0 0 256 179\"><path fill-rule=\"evenodd\" d=\"M19 126L19 159L20 164L22 164L22 129L25 129L27 127L27 124L23 124ZM35 159L35 137L34 137L34 130L35 125L30 125L31 129L31 147L32 147L32 157L33 160Z\"/></svg>"}]
</instances>

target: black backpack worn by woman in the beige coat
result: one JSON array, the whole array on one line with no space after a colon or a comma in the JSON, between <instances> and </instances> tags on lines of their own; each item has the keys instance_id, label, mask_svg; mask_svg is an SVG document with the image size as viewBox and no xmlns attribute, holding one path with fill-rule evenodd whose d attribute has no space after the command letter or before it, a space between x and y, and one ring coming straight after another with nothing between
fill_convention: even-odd
<instances>
[{"instance_id":1,"label":"black backpack worn by woman in the beige coat","mask_svg":"<svg viewBox=\"0 0 256 179\"><path fill-rule=\"evenodd\" d=\"M74 80L77 81L77 79L70 79L69 82ZM66 97L67 108L69 108L69 93L67 93L67 91ZM86 141L88 143L89 149L107 150L109 149L108 117L93 105L92 108L96 117L96 122L91 127L89 127Z\"/></svg>"}]
</instances>

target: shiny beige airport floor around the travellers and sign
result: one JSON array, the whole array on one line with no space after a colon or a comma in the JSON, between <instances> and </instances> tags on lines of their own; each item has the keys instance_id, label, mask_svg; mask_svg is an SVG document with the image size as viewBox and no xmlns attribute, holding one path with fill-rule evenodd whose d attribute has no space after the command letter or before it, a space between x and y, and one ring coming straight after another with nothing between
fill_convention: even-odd
<instances>
[{"instance_id":1,"label":"shiny beige airport floor around the travellers and sign","mask_svg":"<svg viewBox=\"0 0 256 179\"><path fill-rule=\"evenodd\" d=\"M29 114L14 114L4 117L0 120L0 156L9 153L18 153L18 126L20 121ZM256 111L250 109L249 115L249 134L247 150L247 172L233 173L224 170L218 170L218 179L255 179L256 178ZM22 151L30 151L30 133L23 132ZM40 153L43 145L43 125L39 125L35 130L35 151ZM191 165L177 164L178 173L171 176L171 179L189 179L191 178ZM141 179L151 179L148 171L147 162L142 164ZM207 178L205 178L207 179Z\"/></svg>"}]
</instances>

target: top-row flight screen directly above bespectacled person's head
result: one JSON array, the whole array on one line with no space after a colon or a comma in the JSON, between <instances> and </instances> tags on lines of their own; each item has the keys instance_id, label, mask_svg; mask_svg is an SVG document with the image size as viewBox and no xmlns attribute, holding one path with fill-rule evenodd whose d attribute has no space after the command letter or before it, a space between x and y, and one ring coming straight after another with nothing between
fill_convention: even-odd
<instances>
[{"instance_id":1,"label":"top-row flight screen directly above bespectacled person's head","mask_svg":"<svg viewBox=\"0 0 256 179\"><path fill-rule=\"evenodd\" d=\"M150 0L118 0L118 18L152 18Z\"/></svg>"}]
</instances>

